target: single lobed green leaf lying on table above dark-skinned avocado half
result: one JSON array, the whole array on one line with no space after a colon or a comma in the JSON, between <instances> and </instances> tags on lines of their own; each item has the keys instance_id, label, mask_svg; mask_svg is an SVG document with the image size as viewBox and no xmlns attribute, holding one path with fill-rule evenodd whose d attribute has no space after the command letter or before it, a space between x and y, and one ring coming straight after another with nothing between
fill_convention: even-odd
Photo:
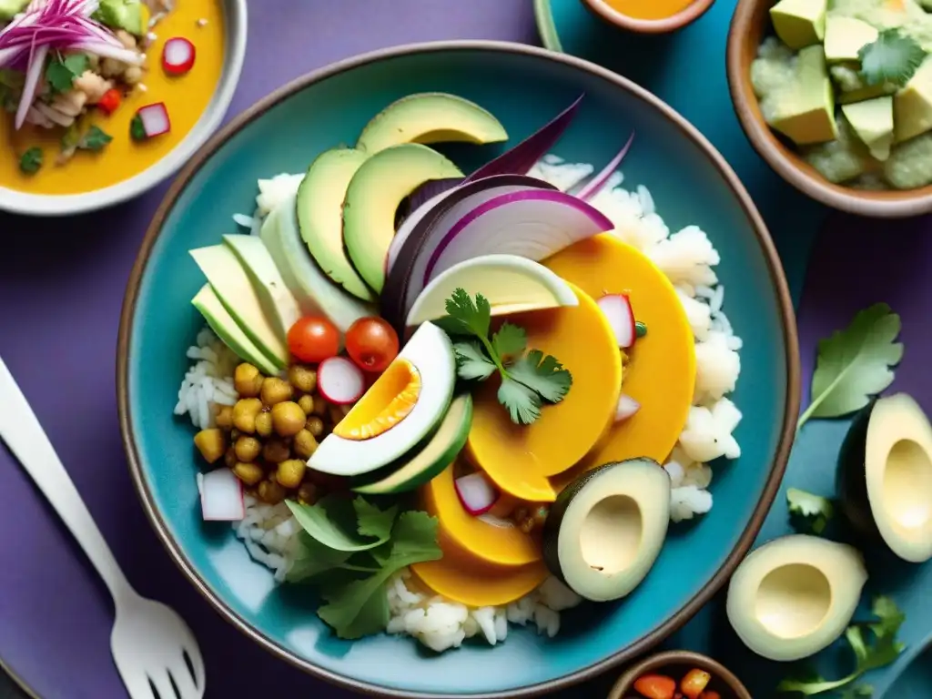
<instances>
[{"instance_id":1,"label":"single lobed green leaf lying on table above dark-skinned avocado half","mask_svg":"<svg viewBox=\"0 0 932 699\"><path fill-rule=\"evenodd\" d=\"M812 402L796 423L809 418L838 418L864 407L870 397L893 383L903 358L899 316L880 303L857 313L844 330L818 343Z\"/></svg>"}]
</instances>

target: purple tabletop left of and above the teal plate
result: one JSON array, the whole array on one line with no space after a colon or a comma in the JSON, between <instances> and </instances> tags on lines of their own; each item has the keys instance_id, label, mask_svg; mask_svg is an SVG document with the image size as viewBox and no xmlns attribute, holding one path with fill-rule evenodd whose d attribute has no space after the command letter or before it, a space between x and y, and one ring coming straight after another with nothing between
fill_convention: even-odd
<instances>
[{"instance_id":1,"label":"purple tabletop left of and above the teal plate","mask_svg":"<svg viewBox=\"0 0 932 699\"><path fill-rule=\"evenodd\" d=\"M357 53L439 39L537 43L519 0L254 0L230 114L297 75ZM130 485L115 391L117 324L145 227L165 186L68 220L0 215L0 356L144 595L199 637L209 697L347 695L286 665L226 624L163 555ZM126 695L109 653L111 602L67 531L0 449L0 658L44 699ZM244 671L244 669L246 671ZM286 694L287 692L287 694Z\"/></svg>"}]
</instances>

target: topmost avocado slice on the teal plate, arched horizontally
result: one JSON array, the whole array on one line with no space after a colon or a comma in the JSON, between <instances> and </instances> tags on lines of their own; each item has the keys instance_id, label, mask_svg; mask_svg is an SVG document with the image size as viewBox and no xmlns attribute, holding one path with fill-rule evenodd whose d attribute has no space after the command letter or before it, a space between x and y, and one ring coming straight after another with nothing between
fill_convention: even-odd
<instances>
[{"instance_id":1,"label":"topmost avocado slice on the teal plate, arched horizontally","mask_svg":"<svg viewBox=\"0 0 932 699\"><path fill-rule=\"evenodd\" d=\"M508 140L500 121L478 104L446 92L419 92L391 103L365 125L356 147L370 156L392 145Z\"/></svg>"}]
</instances>

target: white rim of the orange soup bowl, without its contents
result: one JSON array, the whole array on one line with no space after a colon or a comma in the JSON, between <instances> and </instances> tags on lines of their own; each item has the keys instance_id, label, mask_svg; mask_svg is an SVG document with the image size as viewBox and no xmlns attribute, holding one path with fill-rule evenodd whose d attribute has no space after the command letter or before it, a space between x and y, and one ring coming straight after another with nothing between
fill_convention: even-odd
<instances>
[{"instance_id":1,"label":"white rim of the orange soup bowl, without its contents","mask_svg":"<svg viewBox=\"0 0 932 699\"><path fill-rule=\"evenodd\" d=\"M0 186L0 211L30 216L66 216L104 209L138 197L185 165L220 126L233 100L237 83L240 82L242 63L246 57L246 0L224 0L224 12L226 60L220 82L198 123L165 158L117 185L83 194L29 194Z\"/></svg>"}]
</instances>

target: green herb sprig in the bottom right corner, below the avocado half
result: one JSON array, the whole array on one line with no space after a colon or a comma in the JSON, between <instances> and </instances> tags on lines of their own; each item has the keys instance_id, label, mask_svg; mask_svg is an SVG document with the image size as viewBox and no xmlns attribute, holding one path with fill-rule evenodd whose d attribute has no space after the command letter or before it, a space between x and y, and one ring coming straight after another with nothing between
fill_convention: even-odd
<instances>
[{"instance_id":1,"label":"green herb sprig in the bottom right corner, below the avocado half","mask_svg":"<svg viewBox=\"0 0 932 699\"><path fill-rule=\"evenodd\" d=\"M873 601L871 614L875 620L866 624L852 624L844 632L845 640L855 654L855 669L839 679L826 679L814 675L786 678L777 685L777 692L796 692L813 696L840 690L843 697L870 696L869 685L856 681L870 670L891 665L906 646L897 639L899 627L906 616L890 597L878 596Z\"/></svg>"}]
</instances>

